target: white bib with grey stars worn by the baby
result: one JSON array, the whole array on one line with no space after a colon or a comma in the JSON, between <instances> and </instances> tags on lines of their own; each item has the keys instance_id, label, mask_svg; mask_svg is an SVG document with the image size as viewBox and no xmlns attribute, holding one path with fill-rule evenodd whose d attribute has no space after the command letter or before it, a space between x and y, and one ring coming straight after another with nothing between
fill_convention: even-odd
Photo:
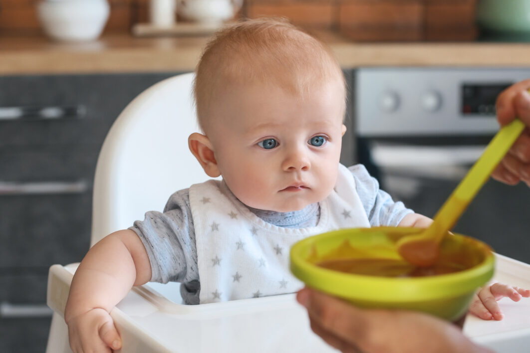
<instances>
[{"instance_id":1,"label":"white bib with grey stars worn by the baby","mask_svg":"<svg viewBox=\"0 0 530 353\"><path fill-rule=\"evenodd\" d=\"M219 180L192 185L189 196L200 304L296 292L303 283L289 270L289 250L295 242L339 228L370 227L355 179L343 165L333 191L320 202L315 227L267 223Z\"/></svg>"}]
</instances>

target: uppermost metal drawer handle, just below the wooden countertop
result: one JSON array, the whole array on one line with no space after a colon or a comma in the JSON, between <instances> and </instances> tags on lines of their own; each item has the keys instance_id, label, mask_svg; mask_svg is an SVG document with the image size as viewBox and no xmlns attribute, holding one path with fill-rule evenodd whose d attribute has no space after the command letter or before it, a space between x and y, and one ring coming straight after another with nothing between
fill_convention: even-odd
<instances>
[{"instance_id":1,"label":"uppermost metal drawer handle, just below the wooden countertop","mask_svg":"<svg viewBox=\"0 0 530 353\"><path fill-rule=\"evenodd\" d=\"M0 120L82 119L85 116L86 107L84 105L0 106Z\"/></svg>"}]
</instances>

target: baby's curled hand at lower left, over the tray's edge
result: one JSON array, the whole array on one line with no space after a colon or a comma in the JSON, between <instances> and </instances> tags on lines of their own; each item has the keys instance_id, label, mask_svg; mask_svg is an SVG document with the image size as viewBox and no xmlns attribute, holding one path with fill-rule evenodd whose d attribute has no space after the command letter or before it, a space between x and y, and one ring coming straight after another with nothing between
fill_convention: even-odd
<instances>
[{"instance_id":1,"label":"baby's curled hand at lower left, over the tray's edge","mask_svg":"<svg viewBox=\"0 0 530 353\"><path fill-rule=\"evenodd\" d=\"M92 309L68 322L70 348L78 352L112 352L121 348L121 339L114 321L103 309Z\"/></svg>"}]
</instances>

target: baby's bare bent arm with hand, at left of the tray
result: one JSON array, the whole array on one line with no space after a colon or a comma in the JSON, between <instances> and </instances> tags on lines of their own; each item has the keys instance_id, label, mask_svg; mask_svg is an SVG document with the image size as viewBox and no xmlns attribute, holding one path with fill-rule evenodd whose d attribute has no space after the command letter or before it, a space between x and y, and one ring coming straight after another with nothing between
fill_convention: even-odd
<instances>
[{"instance_id":1,"label":"baby's bare bent arm with hand, at left of the tray","mask_svg":"<svg viewBox=\"0 0 530 353\"><path fill-rule=\"evenodd\" d=\"M147 251L134 231L120 230L96 243L77 268L65 321L74 352L121 348L109 312L130 288L151 279Z\"/></svg>"}]
</instances>

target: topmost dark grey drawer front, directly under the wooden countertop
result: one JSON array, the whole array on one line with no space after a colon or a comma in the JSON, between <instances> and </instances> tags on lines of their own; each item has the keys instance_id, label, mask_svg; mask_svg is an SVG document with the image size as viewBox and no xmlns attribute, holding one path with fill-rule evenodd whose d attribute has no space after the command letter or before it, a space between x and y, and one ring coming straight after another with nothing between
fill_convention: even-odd
<instances>
[{"instance_id":1,"label":"topmost dark grey drawer front, directly under the wooden countertop","mask_svg":"<svg viewBox=\"0 0 530 353\"><path fill-rule=\"evenodd\" d=\"M0 77L0 148L80 143L99 147L136 95L173 75Z\"/></svg>"}]
</instances>

